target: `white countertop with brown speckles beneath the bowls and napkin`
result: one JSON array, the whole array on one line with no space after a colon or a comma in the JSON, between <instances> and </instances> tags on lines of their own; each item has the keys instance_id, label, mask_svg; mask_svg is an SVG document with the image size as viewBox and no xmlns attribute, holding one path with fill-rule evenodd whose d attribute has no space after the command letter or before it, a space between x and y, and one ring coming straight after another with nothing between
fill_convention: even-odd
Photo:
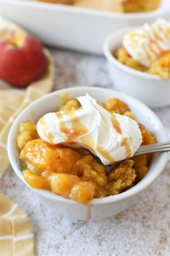
<instances>
[{"instance_id":1,"label":"white countertop with brown speckles beneath the bowls and napkin","mask_svg":"<svg viewBox=\"0 0 170 256\"><path fill-rule=\"evenodd\" d=\"M72 85L112 86L102 57L51 52L55 58L55 90ZM170 108L154 111L170 139ZM102 221L59 216L22 184L11 167L0 180L0 192L17 202L32 219L36 256L170 255L170 161L164 173L139 196L138 204Z\"/></svg>"}]
</instances>

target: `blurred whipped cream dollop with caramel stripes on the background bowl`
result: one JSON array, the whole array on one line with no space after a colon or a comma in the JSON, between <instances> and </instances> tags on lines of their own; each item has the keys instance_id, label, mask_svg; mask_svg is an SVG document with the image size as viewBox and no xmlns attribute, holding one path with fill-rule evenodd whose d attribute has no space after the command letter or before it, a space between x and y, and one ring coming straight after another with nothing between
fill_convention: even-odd
<instances>
[{"instance_id":1,"label":"blurred whipped cream dollop with caramel stripes on the background bowl","mask_svg":"<svg viewBox=\"0 0 170 256\"><path fill-rule=\"evenodd\" d=\"M158 19L124 36L122 40L128 54L145 67L151 67L158 56L170 50L170 22Z\"/></svg>"}]
</instances>

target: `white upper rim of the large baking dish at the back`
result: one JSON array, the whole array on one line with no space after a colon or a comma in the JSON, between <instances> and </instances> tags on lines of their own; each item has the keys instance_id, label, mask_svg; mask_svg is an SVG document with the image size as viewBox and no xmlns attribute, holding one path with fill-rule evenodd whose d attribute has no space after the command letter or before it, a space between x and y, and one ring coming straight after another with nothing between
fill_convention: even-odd
<instances>
[{"instance_id":1,"label":"white upper rim of the large baking dish at the back","mask_svg":"<svg viewBox=\"0 0 170 256\"><path fill-rule=\"evenodd\" d=\"M4 0L2 0L4 1ZM25 0L15 0L13 2L12 0L8 0L8 2L12 2L12 4L19 4L19 5L25 5L27 7L42 7L45 9L56 9L58 11L63 12L73 12L74 14L88 14L93 16L99 16L99 17L107 17L107 18L116 18L116 19L128 19L128 20L135 20L135 19L151 19L151 17L155 17L156 15L162 14L166 10L166 0L161 0L161 3L158 7L158 9L155 9L150 12L139 12L139 13L116 13L116 12L106 12L106 11L100 11L97 9L85 9L81 7L74 7L69 5L63 5L63 4L53 4L48 2L40 2L40 1L25 1Z\"/></svg>"}]
</instances>

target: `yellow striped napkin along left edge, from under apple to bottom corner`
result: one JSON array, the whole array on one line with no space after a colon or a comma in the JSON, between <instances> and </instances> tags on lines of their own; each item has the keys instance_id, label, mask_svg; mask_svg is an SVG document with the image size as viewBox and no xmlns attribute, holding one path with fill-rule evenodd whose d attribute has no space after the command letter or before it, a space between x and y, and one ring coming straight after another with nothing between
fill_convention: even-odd
<instances>
[{"instance_id":1,"label":"yellow striped napkin along left edge, from under apple to bottom corner","mask_svg":"<svg viewBox=\"0 0 170 256\"><path fill-rule=\"evenodd\" d=\"M26 33L13 22L0 17L0 38L5 38L14 30L17 30L17 33ZM40 80L32 82L26 89L12 88L0 80L0 176L9 165L6 142L12 122L24 107L53 88L54 63L48 50L44 51L48 69ZM0 194L0 256L12 255L34 255L32 223L17 204Z\"/></svg>"}]
</instances>

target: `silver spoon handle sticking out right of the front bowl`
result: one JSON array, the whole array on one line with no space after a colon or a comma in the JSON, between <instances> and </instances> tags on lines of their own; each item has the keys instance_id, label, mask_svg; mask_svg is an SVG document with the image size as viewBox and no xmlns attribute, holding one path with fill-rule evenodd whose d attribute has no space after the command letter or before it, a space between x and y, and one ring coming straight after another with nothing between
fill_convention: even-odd
<instances>
[{"instance_id":1,"label":"silver spoon handle sticking out right of the front bowl","mask_svg":"<svg viewBox=\"0 0 170 256\"><path fill-rule=\"evenodd\" d=\"M163 142L151 145L140 146L134 155L170 151L170 142Z\"/></svg>"}]
</instances>

